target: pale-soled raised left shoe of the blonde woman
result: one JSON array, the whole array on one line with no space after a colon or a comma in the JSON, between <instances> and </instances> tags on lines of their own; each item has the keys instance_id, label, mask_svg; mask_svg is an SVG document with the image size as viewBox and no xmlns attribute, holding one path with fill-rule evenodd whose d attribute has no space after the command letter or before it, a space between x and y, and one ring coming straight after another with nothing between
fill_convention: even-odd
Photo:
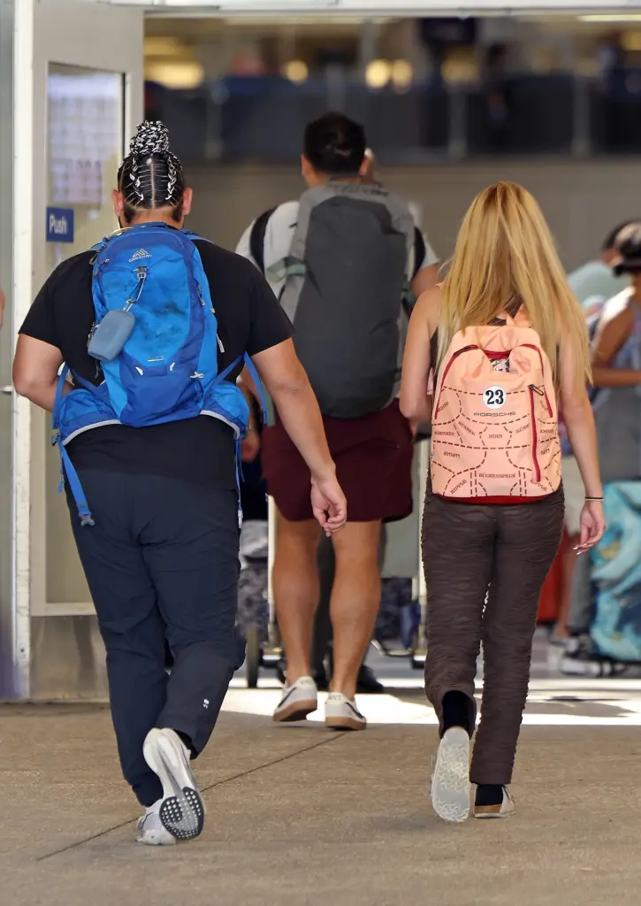
<instances>
[{"instance_id":1,"label":"pale-soled raised left shoe of the blonde woman","mask_svg":"<svg viewBox=\"0 0 641 906\"><path fill-rule=\"evenodd\" d=\"M436 752L432 805L444 821L461 824L470 814L470 737L461 727L445 731Z\"/></svg>"}]
</instances>

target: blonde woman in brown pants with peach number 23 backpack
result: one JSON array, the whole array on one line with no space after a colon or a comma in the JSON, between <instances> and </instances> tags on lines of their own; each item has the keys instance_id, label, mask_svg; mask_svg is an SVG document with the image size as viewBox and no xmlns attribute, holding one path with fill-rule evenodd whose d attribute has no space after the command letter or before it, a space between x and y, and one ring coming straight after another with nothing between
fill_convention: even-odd
<instances>
[{"instance_id":1,"label":"blonde woman in brown pants with peach number 23 backpack","mask_svg":"<svg viewBox=\"0 0 641 906\"><path fill-rule=\"evenodd\" d=\"M492 339L486 342L487 337ZM462 353L469 353L471 362L466 372L460 371ZM460 380L474 390L474 381L488 369L492 378L481 380L492 386L483 390L481 384L478 401L474 393L452 387ZM475 817L502 817L514 808L507 786L527 697L532 635L541 585L563 525L559 408L586 493L579 553L597 544L604 532L589 376L584 317L541 209L521 186L486 188L464 217L449 275L416 304L400 398L401 410L418 423L432 417L431 378L437 400L441 393L450 394L445 403L437 402L433 419L423 522L429 595L426 693L441 735L432 801L446 821L467 818L471 783L476 785ZM523 408L526 401L531 410ZM502 434L509 439L496 439ZM448 447L443 447L444 436ZM438 444L448 471L457 476L449 483L443 469L435 471ZM474 464L464 469L464 459L472 454L482 454L483 462L502 457L511 465L477 468L480 479L471 483L474 491L466 491ZM505 496L488 491L514 476ZM482 641L483 718L470 769L474 676Z\"/></svg>"}]
</instances>

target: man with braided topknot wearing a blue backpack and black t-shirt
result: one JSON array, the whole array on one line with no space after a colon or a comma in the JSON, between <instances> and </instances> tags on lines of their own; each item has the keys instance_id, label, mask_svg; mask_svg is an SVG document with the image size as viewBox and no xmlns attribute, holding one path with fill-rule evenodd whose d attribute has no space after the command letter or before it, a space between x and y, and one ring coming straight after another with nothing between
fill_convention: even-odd
<instances>
[{"instance_id":1,"label":"man with braided topknot wearing a blue backpack and black t-shirt","mask_svg":"<svg viewBox=\"0 0 641 906\"><path fill-rule=\"evenodd\" d=\"M235 631L244 361L310 468L325 532L342 527L346 507L292 326L254 265L183 229L192 192L162 123L139 126L113 203L120 231L64 261L37 295L14 385L53 411L120 763L146 809L137 839L158 845L202 831L189 763L244 659Z\"/></svg>"}]
</instances>

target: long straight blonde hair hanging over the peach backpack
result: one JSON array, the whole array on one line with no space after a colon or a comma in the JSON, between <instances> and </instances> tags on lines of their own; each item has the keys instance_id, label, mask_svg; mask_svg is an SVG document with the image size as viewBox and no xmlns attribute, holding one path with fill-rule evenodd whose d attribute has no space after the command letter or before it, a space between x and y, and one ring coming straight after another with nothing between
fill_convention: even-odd
<instances>
[{"instance_id":1,"label":"long straight blonde hair hanging over the peach backpack","mask_svg":"<svg viewBox=\"0 0 641 906\"><path fill-rule=\"evenodd\" d=\"M550 229L527 189L499 182L474 198L441 292L438 365L454 333L490 323L520 299L559 386L558 351L569 339L577 386L590 381L585 315L569 289Z\"/></svg>"}]
</instances>

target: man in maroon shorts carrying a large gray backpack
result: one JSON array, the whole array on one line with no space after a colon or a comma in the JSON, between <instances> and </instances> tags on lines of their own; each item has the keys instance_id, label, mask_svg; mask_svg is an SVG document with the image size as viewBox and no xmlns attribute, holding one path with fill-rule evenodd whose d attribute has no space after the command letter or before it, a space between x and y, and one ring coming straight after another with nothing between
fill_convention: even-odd
<instances>
[{"instance_id":1,"label":"man in maroon shorts carrying a large gray backpack","mask_svg":"<svg viewBox=\"0 0 641 906\"><path fill-rule=\"evenodd\" d=\"M326 725L341 729L366 727L354 695L380 602L380 528L412 510L412 435L396 400L404 290L413 277L415 293L422 281L435 282L435 259L426 262L426 246L416 249L407 205L359 177L365 151L364 131L348 118L310 123L302 156L308 192L267 212L258 248L262 218L237 249L264 270L292 320L348 498L348 524L332 539L334 669L325 711ZM416 254L423 267L415 268ZM300 720L318 704L310 660L320 532L306 499L309 469L278 413L263 432L263 475L278 511L273 593L288 680L273 719Z\"/></svg>"}]
</instances>

